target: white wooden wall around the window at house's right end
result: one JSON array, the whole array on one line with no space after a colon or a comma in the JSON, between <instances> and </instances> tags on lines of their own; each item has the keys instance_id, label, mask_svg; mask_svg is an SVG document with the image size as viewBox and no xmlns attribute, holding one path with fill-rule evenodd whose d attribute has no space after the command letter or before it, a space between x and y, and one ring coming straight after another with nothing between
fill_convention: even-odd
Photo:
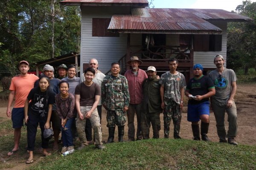
<instances>
[{"instance_id":1,"label":"white wooden wall around the window at house's right end","mask_svg":"<svg viewBox=\"0 0 256 170\"><path fill-rule=\"evenodd\" d=\"M221 51L195 51L194 64L201 64L204 68L216 68L213 63L214 56L221 54L224 59L227 59L227 22L210 22L222 30L222 48ZM224 63L226 67L226 62Z\"/></svg>"}]
</instances>

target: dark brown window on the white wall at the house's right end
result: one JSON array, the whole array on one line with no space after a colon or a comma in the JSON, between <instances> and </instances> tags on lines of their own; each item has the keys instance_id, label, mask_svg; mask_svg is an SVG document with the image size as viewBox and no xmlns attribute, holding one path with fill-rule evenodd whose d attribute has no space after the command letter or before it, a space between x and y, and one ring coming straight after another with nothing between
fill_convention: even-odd
<instances>
[{"instance_id":1,"label":"dark brown window on the white wall at the house's right end","mask_svg":"<svg viewBox=\"0 0 256 170\"><path fill-rule=\"evenodd\" d=\"M194 51L221 51L222 35L195 34L193 42Z\"/></svg>"}]
</instances>

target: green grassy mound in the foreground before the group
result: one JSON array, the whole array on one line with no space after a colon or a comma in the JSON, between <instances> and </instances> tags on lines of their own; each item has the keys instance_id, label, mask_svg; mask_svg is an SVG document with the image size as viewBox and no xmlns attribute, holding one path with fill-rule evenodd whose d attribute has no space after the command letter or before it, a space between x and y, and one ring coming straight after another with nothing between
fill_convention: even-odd
<instances>
[{"instance_id":1,"label":"green grassy mound in the foreground before the group","mask_svg":"<svg viewBox=\"0 0 256 170\"><path fill-rule=\"evenodd\" d=\"M106 144L106 147L105 150L96 150L91 145L65 157L53 155L30 169L252 170L256 168L255 146L236 147L230 144L183 139L149 139Z\"/></svg>"}]
</instances>

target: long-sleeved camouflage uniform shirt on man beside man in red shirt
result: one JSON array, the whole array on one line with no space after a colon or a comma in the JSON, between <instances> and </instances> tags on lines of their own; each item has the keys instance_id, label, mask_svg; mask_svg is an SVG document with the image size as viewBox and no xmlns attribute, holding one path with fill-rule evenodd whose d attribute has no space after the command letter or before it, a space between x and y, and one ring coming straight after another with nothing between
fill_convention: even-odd
<instances>
[{"instance_id":1,"label":"long-sleeved camouflage uniform shirt on man beside man in red shirt","mask_svg":"<svg viewBox=\"0 0 256 170\"><path fill-rule=\"evenodd\" d=\"M122 110L124 106L129 106L130 95L127 79L118 74L113 79L112 75L107 75L102 82L102 105L108 110Z\"/></svg>"}]
</instances>

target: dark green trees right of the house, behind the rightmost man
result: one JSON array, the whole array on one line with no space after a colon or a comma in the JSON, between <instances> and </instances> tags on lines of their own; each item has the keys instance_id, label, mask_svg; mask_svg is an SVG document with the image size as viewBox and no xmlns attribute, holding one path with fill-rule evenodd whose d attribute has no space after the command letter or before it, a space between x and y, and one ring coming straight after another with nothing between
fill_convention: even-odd
<instances>
[{"instance_id":1,"label":"dark green trees right of the house, behind the rightmost man","mask_svg":"<svg viewBox=\"0 0 256 170\"><path fill-rule=\"evenodd\" d=\"M256 2L243 1L236 12L253 18L253 22L229 23L227 65L234 70L243 68L247 74L248 68L256 69Z\"/></svg>"}]
</instances>

